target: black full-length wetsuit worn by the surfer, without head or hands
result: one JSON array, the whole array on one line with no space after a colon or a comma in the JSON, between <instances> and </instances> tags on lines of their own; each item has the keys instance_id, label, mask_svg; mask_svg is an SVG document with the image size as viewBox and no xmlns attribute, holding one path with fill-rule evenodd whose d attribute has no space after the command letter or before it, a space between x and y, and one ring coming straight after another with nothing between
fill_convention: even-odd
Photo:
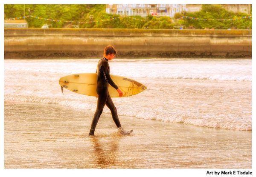
<instances>
[{"instance_id":1,"label":"black full-length wetsuit worn by the surfer, without head or hands","mask_svg":"<svg viewBox=\"0 0 256 177\"><path fill-rule=\"evenodd\" d=\"M118 86L113 82L113 80L110 77L109 74L109 65L108 65L108 59L102 58L99 60L98 66L97 66L97 74L98 74L98 81L97 81L97 94L99 95L97 100L97 108L95 111L95 114L93 116L92 125L90 129L90 135L94 135L94 130L96 128L96 125L98 123L99 117L102 114L103 108L105 105L108 106L108 108L111 111L112 118L114 122L116 123L116 126L119 128L121 127L119 118L117 116L116 107L108 93L108 84L110 84L113 88L118 89Z\"/></svg>"}]
</instances>

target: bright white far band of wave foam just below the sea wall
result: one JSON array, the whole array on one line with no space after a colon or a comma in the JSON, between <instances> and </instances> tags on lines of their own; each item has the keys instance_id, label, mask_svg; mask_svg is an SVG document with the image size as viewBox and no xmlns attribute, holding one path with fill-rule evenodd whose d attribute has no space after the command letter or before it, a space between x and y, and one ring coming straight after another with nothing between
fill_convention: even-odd
<instances>
[{"instance_id":1,"label":"bright white far band of wave foam just below the sea wall","mask_svg":"<svg viewBox=\"0 0 256 177\"><path fill-rule=\"evenodd\" d=\"M95 72L98 60L7 60L8 71L26 71L52 74ZM132 60L134 61L134 60ZM141 60L138 60L141 61ZM131 62L128 59L110 62L111 74L133 78L170 78L195 80L251 81L251 60L151 60ZM139 68L138 68L139 66Z\"/></svg>"}]
</instances>

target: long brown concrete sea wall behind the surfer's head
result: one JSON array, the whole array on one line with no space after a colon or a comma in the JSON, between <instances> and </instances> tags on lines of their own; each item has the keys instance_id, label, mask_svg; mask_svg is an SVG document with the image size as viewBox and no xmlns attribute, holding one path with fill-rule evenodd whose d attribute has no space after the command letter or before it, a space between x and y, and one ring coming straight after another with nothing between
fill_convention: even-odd
<instances>
[{"instance_id":1,"label":"long brown concrete sea wall behind the surfer's head","mask_svg":"<svg viewBox=\"0 0 256 177\"><path fill-rule=\"evenodd\" d=\"M251 30L5 29L5 59L102 57L107 45L118 58L250 58Z\"/></svg>"}]
</instances>

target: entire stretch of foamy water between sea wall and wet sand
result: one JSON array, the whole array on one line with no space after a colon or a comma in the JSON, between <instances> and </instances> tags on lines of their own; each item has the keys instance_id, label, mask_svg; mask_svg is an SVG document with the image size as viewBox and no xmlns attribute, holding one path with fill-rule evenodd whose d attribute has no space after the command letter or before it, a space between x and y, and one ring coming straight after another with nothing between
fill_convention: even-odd
<instances>
[{"instance_id":1,"label":"entire stretch of foamy water between sea wall and wet sand","mask_svg":"<svg viewBox=\"0 0 256 177\"><path fill-rule=\"evenodd\" d=\"M132 62L131 62L132 61ZM64 89L59 77L95 72L98 60L5 60L5 100L96 109L96 98ZM113 98L118 114L169 123L250 131L251 60L117 60L111 74L147 90ZM236 82L235 82L236 81ZM104 112L110 114L108 108ZM111 115L110 115L111 116Z\"/></svg>"}]
</instances>

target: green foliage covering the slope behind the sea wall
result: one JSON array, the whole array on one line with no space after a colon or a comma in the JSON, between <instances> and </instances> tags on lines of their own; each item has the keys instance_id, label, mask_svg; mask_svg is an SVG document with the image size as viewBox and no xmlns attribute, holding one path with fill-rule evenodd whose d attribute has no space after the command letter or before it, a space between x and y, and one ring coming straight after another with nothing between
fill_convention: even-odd
<instances>
[{"instance_id":1,"label":"green foliage covering the slope behind the sea wall","mask_svg":"<svg viewBox=\"0 0 256 177\"><path fill-rule=\"evenodd\" d=\"M24 8L25 7L25 8ZM32 15L45 19L33 17L26 18L31 28L41 28L45 23L51 24L53 28L66 28L79 25L79 28L130 28L130 29L173 29L183 26L184 29L251 29L251 19L241 20L195 20L180 17L188 16L200 19L238 19L248 14L233 13L224 9L221 5L202 5L201 11L185 14L176 13L171 17L120 16L118 14L107 14L105 4L5 4L5 18L23 17ZM179 19L179 20L177 20ZM61 20L57 21L57 20ZM65 22L73 21L73 22ZM81 22L81 23L78 23ZM87 22L87 23L83 23Z\"/></svg>"}]
</instances>

